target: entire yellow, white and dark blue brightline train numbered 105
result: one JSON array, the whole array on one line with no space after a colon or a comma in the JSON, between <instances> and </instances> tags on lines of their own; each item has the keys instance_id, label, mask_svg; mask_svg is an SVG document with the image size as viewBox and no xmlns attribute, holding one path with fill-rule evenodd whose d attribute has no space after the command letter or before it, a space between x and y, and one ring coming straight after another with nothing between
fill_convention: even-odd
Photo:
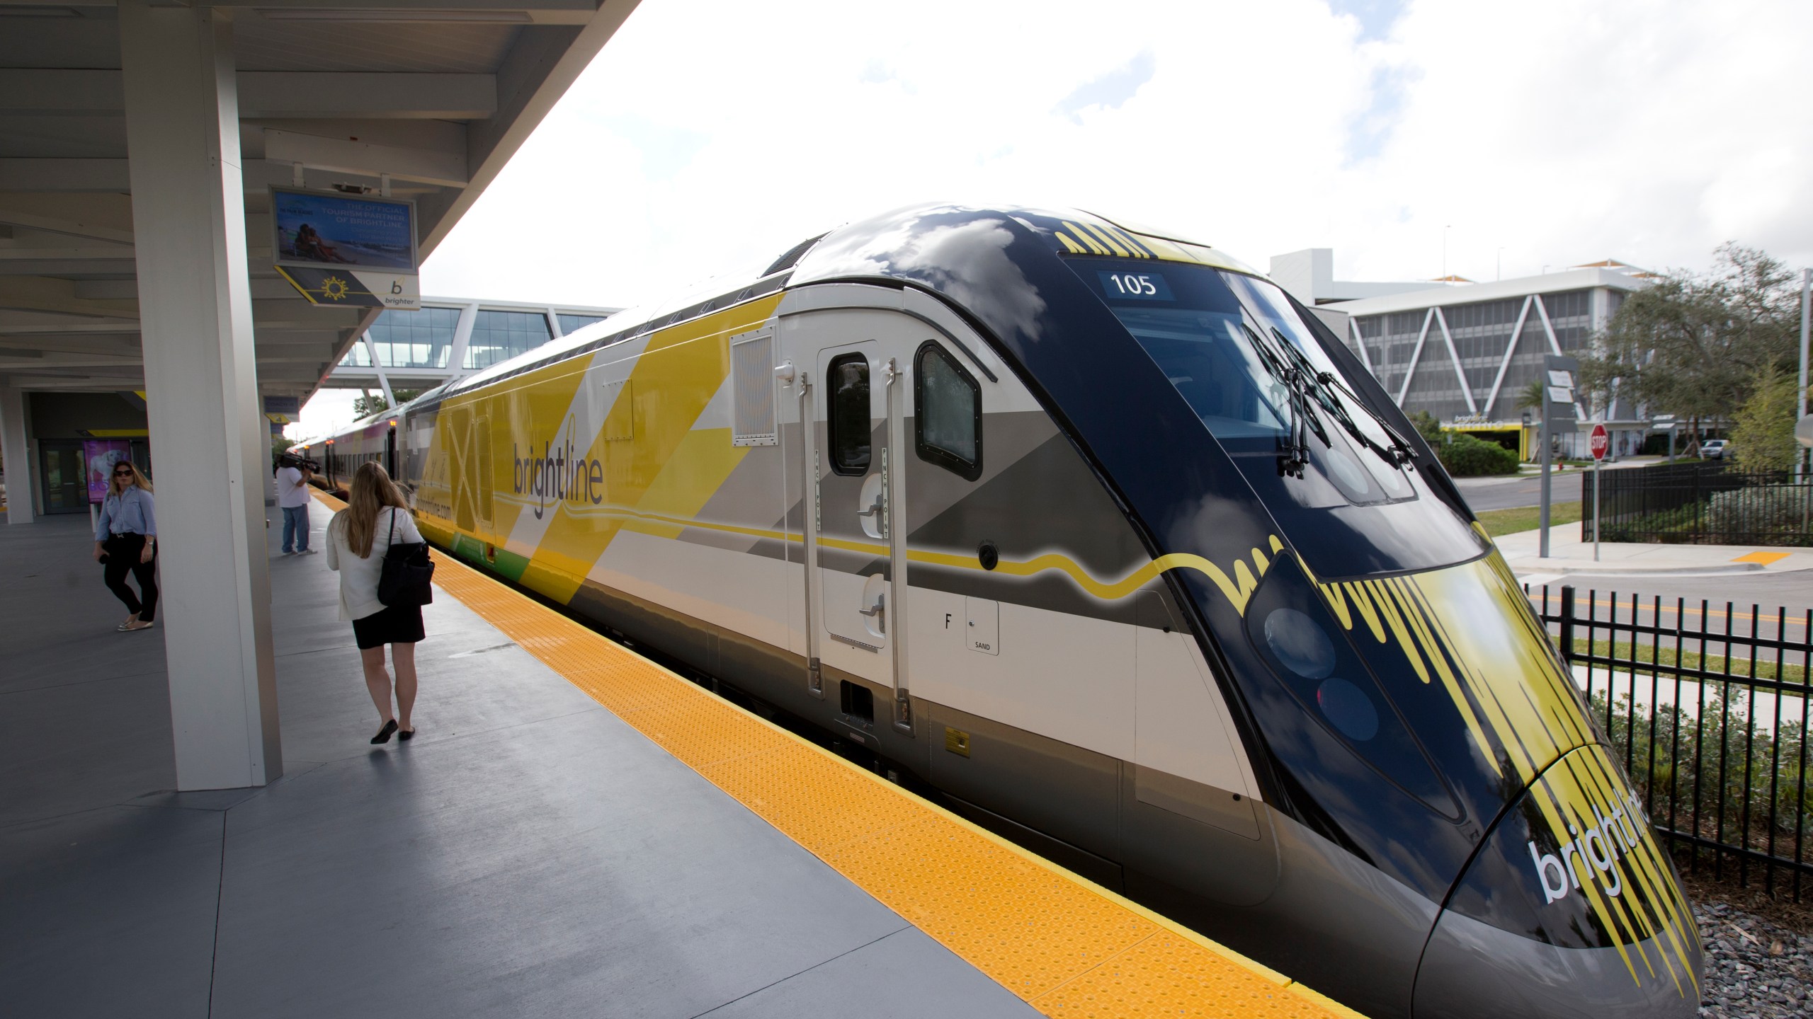
<instances>
[{"instance_id":1,"label":"entire yellow, white and dark blue brightline train numbered 105","mask_svg":"<svg viewBox=\"0 0 1813 1019\"><path fill-rule=\"evenodd\" d=\"M905 209L312 451L1367 1015L1697 1012L1688 901L1516 578L1215 248Z\"/></svg>"}]
</instances>

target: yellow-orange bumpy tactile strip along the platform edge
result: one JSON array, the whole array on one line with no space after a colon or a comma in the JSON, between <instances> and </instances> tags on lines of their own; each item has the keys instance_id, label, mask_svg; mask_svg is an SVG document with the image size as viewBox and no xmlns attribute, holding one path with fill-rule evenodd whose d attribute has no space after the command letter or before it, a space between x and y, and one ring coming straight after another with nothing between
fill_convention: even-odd
<instances>
[{"instance_id":1,"label":"yellow-orange bumpy tactile strip along the platform edge","mask_svg":"<svg viewBox=\"0 0 1813 1019\"><path fill-rule=\"evenodd\" d=\"M448 595L1046 1015L1358 1017L448 555L435 564Z\"/></svg>"}]
</instances>

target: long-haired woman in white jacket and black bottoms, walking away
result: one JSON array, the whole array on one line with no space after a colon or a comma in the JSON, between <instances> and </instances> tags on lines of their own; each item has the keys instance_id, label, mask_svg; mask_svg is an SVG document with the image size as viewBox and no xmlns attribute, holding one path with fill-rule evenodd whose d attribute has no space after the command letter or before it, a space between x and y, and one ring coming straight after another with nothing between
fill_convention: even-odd
<instances>
[{"instance_id":1,"label":"long-haired woman in white jacket and black bottoms, walking away","mask_svg":"<svg viewBox=\"0 0 1813 1019\"><path fill-rule=\"evenodd\" d=\"M393 542L419 542L402 493L375 462L361 464L352 475L346 508L328 520L328 569L341 575L341 618L352 620L359 660L364 665L364 685L383 727L373 743L388 743L415 736L410 709L415 707L415 642L422 638L421 606L386 606L377 600L377 580L384 573L384 551ZM392 684L384 671L384 645L390 645L390 664L397 669L395 704L392 713Z\"/></svg>"}]
</instances>

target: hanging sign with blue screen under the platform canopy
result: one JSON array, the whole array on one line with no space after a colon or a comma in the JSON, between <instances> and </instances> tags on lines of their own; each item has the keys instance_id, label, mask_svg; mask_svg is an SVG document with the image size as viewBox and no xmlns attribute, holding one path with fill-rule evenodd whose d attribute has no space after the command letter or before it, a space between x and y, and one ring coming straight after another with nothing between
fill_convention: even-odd
<instances>
[{"instance_id":1,"label":"hanging sign with blue screen under the platform canopy","mask_svg":"<svg viewBox=\"0 0 1813 1019\"><path fill-rule=\"evenodd\" d=\"M270 189L277 272L314 305L415 310L415 203L401 198Z\"/></svg>"}]
</instances>

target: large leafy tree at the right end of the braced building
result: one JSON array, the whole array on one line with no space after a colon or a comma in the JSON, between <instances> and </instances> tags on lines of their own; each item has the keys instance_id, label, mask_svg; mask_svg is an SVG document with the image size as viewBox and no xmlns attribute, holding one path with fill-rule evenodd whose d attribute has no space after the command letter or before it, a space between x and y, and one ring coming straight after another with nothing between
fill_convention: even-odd
<instances>
[{"instance_id":1,"label":"large leafy tree at the right end of the braced building","mask_svg":"<svg viewBox=\"0 0 1813 1019\"><path fill-rule=\"evenodd\" d=\"M1581 357L1581 384L1605 404L1617 393L1650 412L1730 419L1771 370L1798 352L1795 274L1757 248L1721 245L1706 274L1668 272L1637 290ZM1692 444L1688 448L1692 451Z\"/></svg>"}]
</instances>

